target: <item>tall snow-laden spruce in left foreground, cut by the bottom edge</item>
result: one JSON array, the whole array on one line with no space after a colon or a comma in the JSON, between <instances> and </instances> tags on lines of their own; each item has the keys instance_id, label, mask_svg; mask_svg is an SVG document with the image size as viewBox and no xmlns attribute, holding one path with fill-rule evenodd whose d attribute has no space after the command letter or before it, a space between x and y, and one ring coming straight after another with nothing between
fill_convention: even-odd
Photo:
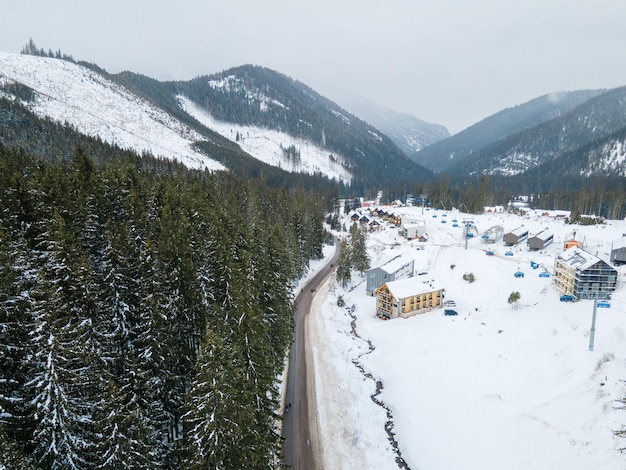
<instances>
[{"instance_id":1,"label":"tall snow-laden spruce in left foreground, cut by the bottom edge","mask_svg":"<svg viewBox=\"0 0 626 470\"><path fill-rule=\"evenodd\" d=\"M99 362L91 350L93 308L84 261L56 212L40 241L45 265L34 293L33 445L47 468L94 465L92 413L99 396Z\"/></svg>"}]
</instances>

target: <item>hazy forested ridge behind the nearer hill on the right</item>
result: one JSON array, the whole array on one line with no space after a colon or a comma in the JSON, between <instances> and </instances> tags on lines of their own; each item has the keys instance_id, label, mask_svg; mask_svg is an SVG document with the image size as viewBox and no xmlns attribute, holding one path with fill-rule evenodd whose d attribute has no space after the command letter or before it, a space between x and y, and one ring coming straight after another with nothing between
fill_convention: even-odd
<instances>
[{"instance_id":1,"label":"hazy forested ridge behind the nearer hill on the right","mask_svg":"<svg viewBox=\"0 0 626 470\"><path fill-rule=\"evenodd\" d=\"M435 173L451 171L458 174L467 172L468 166L471 166L472 172L480 173L483 168L469 158L472 154L521 131L556 119L602 93L603 90L553 93L504 109L452 137L420 150L416 161ZM463 166L465 160L468 160L468 164Z\"/></svg>"}]
</instances>

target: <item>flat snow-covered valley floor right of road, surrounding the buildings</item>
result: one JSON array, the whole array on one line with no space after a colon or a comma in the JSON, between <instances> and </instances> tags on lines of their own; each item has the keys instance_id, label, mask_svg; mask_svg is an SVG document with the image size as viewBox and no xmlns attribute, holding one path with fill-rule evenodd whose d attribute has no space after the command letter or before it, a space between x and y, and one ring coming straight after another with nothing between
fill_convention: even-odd
<instances>
[{"instance_id":1,"label":"flat snow-covered valley floor right of road, surrounding the buildings","mask_svg":"<svg viewBox=\"0 0 626 470\"><path fill-rule=\"evenodd\" d=\"M397 254L415 259L415 271L443 284L459 315L434 309L379 320L358 273L347 289L331 280L318 291L308 331L323 468L398 468L384 429L387 411L371 398L375 381L382 382L376 398L391 413L408 468L625 468L619 448L626 440L614 431L626 424L617 402L626 396L626 290L620 285L611 308L598 309L589 351L593 301L560 302L552 277L539 273L552 271L574 231L586 251L608 262L611 241L626 233L626 222L582 227L540 215L471 216L479 235L495 225L504 233L524 225L531 236L548 228L555 240L530 252L525 242L511 250L478 236L466 249L462 224L450 223L464 214L448 211L444 224L443 211L392 210L423 217L430 241L417 250L420 244L403 240L395 228L371 234L372 267ZM488 249L495 256L486 256ZM504 255L509 250L513 256ZM531 261L540 267L532 269ZM617 269L623 283L626 267ZM514 277L518 270L524 278ZM473 273L475 282L464 281L464 273ZM513 291L521 294L516 308L508 303ZM338 296L348 308L337 306Z\"/></svg>"}]
</instances>

